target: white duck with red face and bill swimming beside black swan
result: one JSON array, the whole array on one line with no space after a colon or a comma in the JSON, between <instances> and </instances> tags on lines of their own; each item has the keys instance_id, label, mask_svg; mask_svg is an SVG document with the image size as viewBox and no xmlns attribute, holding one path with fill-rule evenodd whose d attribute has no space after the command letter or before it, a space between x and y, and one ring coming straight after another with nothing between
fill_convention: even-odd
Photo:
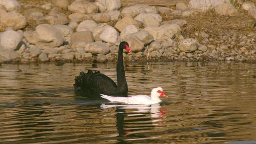
<instances>
[{"instance_id":1,"label":"white duck with red face and bill swimming beside black swan","mask_svg":"<svg viewBox=\"0 0 256 144\"><path fill-rule=\"evenodd\" d=\"M131 97L111 97L108 95L101 94L101 98L108 99L110 101L123 102L127 104L146 104L146 105L151 105L151 104L161 102L162 100L159 99L160 96L167 97L163 92L163 89L160 87L152 89L151 97L146 95L137 95L137 96L131 96Z\"/></svg>"}]
</instances>

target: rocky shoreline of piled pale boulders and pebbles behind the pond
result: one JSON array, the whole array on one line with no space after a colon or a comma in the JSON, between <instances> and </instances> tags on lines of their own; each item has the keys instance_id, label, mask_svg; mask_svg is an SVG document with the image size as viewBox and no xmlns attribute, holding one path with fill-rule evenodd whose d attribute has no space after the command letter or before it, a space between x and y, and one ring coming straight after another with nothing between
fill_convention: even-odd
<instances>
[{"instance_id":1,"label":"rocky shoreline of piled pale boulders and pebbles behind the pond","mask_svg":"<svg viewBox=\"0 0 256 144\"><path fill-rule=\"evenodd\" d=\"M127 62L255 62L255 5L235 3L235 8L234 0L203 1L179 2L175 8L123 8L121 0L50 0L43 5L0 0L0 63L115 62L120 41L132 50L124 54ZM241 32L195 28L186 20L205 13L248 22Z\"/></svg>"}]
</instances>

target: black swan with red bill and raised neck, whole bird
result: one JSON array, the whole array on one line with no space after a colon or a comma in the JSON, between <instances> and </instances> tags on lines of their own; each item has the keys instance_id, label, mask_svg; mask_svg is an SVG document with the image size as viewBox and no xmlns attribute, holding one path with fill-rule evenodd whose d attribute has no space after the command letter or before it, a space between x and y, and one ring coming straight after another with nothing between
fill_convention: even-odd
<instances>
[{"instance_id":1,"label":"black swan with red bill and raised neck, whole bird","mask_svg":"<svg viewBox=\"0 0 256 144\"><path fill-rule=\"evenodd\" d=\"M123 41L119 45L118 63L117 63L117 84L100 71L87 73L80 72L79 76L75 77L74 89L88 93L90 95L106 94L110 96L127 97L128 86L125 78L125 70L123 64L123 50L131 52L127 42Z\"/></svg>"}]
</instances>

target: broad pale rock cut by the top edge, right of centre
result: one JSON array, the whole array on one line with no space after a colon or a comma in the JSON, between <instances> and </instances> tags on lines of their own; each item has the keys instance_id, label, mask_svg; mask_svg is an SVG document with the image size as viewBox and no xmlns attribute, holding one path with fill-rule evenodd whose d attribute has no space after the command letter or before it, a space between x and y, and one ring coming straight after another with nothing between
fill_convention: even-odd
<instances>
[{"instance_id":1,"label":"broad pale rock cut by the top edge, right of centre","mask_svg":"<svg viewBox=\"0 0 256 144\"><path fill-rule=\"evenodd\" d=\"M229 0L190 0L189 7L193 10L204 11L215 8L225 2L229 3Z\"/></svg>"}]
</instances>

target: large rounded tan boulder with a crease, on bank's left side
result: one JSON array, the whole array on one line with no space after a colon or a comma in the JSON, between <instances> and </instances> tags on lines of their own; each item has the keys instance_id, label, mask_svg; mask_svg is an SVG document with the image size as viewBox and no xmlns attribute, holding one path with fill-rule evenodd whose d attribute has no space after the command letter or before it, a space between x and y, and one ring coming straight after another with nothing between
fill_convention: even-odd
<instances>
[{"instance_id":1,"label":"large rounded tan boulder with a crease, on bank's left side","mask_svg":"<svg viewBox=\"0 0 256 144\"><path fill-rule=\"evenodd\" d=\"M48 25L41 24L36 27L37 46L46 49L47 47L57 47L63 44L64 34L61 30Z\"/></svg>"}]
</instances>

